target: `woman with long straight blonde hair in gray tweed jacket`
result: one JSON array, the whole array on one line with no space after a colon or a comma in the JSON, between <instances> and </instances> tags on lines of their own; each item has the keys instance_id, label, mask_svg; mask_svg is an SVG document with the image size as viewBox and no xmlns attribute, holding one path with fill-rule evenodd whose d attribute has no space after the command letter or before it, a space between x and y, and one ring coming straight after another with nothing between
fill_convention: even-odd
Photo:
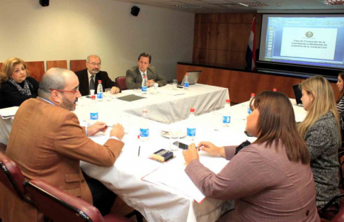
<instances>
[{"instance_id":1,"label":"woman with long straight blonde hair in gray tweed jacket","mask_svg":"<svg viewBox=\"0 0 344 222\"><path fill-rule=\"evenodd\" d=\"M316 206L322 207L339 194L338 148L340 124L331 84L321 76L299 84L307 112L298 129L306 141L316 184Z\"/></svg>"}]
</instances>

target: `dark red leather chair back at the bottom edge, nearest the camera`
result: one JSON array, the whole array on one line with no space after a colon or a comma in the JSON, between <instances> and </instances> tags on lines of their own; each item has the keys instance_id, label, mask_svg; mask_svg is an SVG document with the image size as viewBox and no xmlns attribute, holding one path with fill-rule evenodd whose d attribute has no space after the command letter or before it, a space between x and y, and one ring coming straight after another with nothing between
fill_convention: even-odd
<instances>
[{"instance_id":1,"label":"dark red leather chair back at the bottom edge, nearest the camera","mask_svg":"<svg viewBox=\"0 0 344 222\"><path fill-rule=\"evenodd\" d=\"M122 216L109 213L101 216L96 207L71 194L63 192L42 179L24 182L25 190L35 202L38 210L55 222L59 221L130 221Z\"/></svg>"}]
</instances>

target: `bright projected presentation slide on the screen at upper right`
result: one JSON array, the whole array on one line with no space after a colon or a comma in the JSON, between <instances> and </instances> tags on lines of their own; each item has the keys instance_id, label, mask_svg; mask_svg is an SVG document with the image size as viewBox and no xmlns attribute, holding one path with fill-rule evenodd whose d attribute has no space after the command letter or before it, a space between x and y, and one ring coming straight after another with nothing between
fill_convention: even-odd
<instances>
[{"instance_id":1,"label":"bright projected presentation slide on the screen at upper right","mask_svg":"<svg viewBox=\"0 0 344 222\"><path fill-rule=\"evenodd\" d=\"M344 69L344 15L264 14L259 60Z\"/></svg>"}]
</instances>

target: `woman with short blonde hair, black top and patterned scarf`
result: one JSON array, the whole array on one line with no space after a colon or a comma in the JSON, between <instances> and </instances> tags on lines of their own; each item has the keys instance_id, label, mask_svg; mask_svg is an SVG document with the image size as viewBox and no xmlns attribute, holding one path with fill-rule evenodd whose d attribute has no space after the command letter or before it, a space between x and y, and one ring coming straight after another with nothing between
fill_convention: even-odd
<instances>
[{"instance_id":1,"label":"woman with short blonde hair, black top and patterned scarf","mask_svg":"<svg viewBox=\"0 0 344 222\"><path fill-rule=\"evenodd\" d=\"M1 108L20 106L23 101L36 98L38 82L28 77L28 70L23 60L11 57L2 65L0 74Z\"/></svg>"}]
</instances>

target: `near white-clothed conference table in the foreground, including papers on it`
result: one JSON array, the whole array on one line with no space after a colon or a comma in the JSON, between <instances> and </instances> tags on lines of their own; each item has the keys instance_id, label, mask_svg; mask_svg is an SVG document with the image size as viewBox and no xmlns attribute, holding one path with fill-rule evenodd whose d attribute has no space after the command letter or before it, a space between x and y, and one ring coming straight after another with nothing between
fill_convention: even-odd
<instances>
[{"instance_id":1,"label":"near white-clothed conference table in the foreground, including papers on it","mask_svg":"<svg viewBox=\"0 0 344 222\"><path fill-rule=\"evenodd\" d=\"M292 102L296 105L294 100ZM231 126L221 127L219 130L214 128L217 128L217 116L222 113L222 109L198 115L195 117L195 140L180 138L179 141L196 145L200 141L210 141L218 146L239 145L245 140L253 142L256 138L244 133L244 111L247 107L248 102L231 106ZM304 109L299 106L293 108L297 121L302 121ZM182 150L173 151L173 159L163 163L149 158L157 150L170 148L169 138L161 136L161 131L168 131L171 127L186 131L187 120L170 124L150 120L149 140L142 142L137 137L140 119L139 115L130 114L130 124L126 124L127 134L122 139L125 146L113 167L98 167L81 162L84 172L100 180L129 206L142 213L147 221L216 221L223 213L234 208L234 200L222 201L202 196L185 174ZM91 139L97 143L105 143L109 138L108 133L109 131L100 133ZM202 151L199 154L200 162L215 173L229 162Z\"/></svg>"}]
</instances>

